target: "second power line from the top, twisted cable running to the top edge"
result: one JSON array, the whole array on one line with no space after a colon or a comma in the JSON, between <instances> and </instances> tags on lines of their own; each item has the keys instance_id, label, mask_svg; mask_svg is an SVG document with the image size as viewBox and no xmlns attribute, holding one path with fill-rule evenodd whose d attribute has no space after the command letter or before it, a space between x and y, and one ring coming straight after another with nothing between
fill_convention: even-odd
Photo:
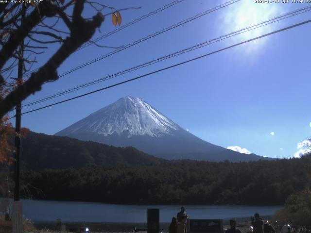
<instances>
[{"instance_id":1,"label":"second power line from the top, twisted cable running to the top edge","mask_svg":"<svg viewBox=\"0 0 311 233\"><path fill-rule=\"evenodd\" d=\"M183 25L183 24L186 24L186 23L188 23L188 22L190 22L190 21L192 21L192 20L194 20L194 19L197 19L197 18L199 18L199 17L205 16L205 15L207 15L207 14L209 14L209 13L212 13L212 12L214 12L214 11L217 11L217 10L219 10L219 9L222 9L222 8L224 8L224 7L228 6L228 5L231 5L231 4L235 3L235 2L238 2L238 1L240 1L240 0L230 0L230 1L227 1L227 2L225 2L224 4L218 5L218 6L214 7L214 8L212 8L212 9L209 9L209 10L207 10L207 11L205 11L205 12L202 12L202 13L200 13L200 14L197 14L197 15L195 15L195 16L193 16L193 17L187 18L187 19L185 19L185 20L183 20L183 21L180 21L180 22L178 22L178 23L176 23L176 24L173 24L173 25L171 25L171 26L169 26L169 27L167 27L167 28L165 28L165 29L162 29L162 30L160 30L160 31L158 31L158 32L155 32L155 33L152 33L152 34L150 34L150 35L147 35L147 36L145 36L145 37L143 37L143 38L141 38L141 39L139 39L139 40L136 40L136 41L134 41L134 42L132 42L132 43L130 43L130 44L127 44L127 45L125 45L125 46L122 46L121 48L118 48L118 49L113 50L113 51L111 51L111 52L109 52L109 53L106 53L106 54L104 54L104 55L102 55L102 56L100 56L100 57L97 57L97 58L95 58L95 59L93 59L93 60L91 60L91 61L89 61L89 62L86 62L86 63L80 65L80 66L74 67L74 68L72 68L72 69L70 69L70 70L68 70L68 71L66 71L66 72L64 72L64 73L62 73L62 74L60 74L58 77L60 78L60 77L63 77L63 76L65 76L65 75L68 75L68 74L70 74L70 73L72 73L72 72L74 72L74 71L76 71L76 70L78 70L78 69L81 69L81 68L86 67L86 66L89 66L89 65L91 65L91 64L93 64L93 63L95 63L95 62L98 62L98 61L100 61L100 60L103 60L104 58L109 57L109 56L111 56L111 55L113 55L113 54L115 54L115 53L117 53L117 52L120 52L120 51L122 51L122 50L126 50L126 49L128 49L128 48L130 48L130 47L132 47L132 46L135 46L135 45L137 45L137 44L139 44L139 43L141 43L141 42L143 42L143 41L145 41L145 40L151 39L151 38L153 38L153 37L155 37L155 36L157 36L157 35L159 35L159 34L168 32L168 31L170 31L170 30L172 30L172 29L174 29L174 28L176 28L176 27L179 27L179 26L181 26L181 25Z\"/></svg>"}]
</instances>

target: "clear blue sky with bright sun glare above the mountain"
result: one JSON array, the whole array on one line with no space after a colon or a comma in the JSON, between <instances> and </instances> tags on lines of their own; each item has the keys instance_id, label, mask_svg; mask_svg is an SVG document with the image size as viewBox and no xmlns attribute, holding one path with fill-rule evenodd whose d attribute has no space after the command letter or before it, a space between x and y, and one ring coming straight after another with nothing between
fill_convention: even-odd
<instances>
[{"instance_id":1,"label":"clear blue sky with bright sun glare above the mountain","mask_svg":"<svg viewBox=\"0 0 311 233\"><path fill-rule=\"evenodd\" d=\"M170 2L132 0L107 1L107 4L117 9L141 7L121 12L122 24L126 24ZM116 47L126 45L223 2L225 1L185 0L105 38L100 43ZM236 2L73 72L54 83L47 83L40 92L24 103L305 6L307 5L302 3L259 4L253 0ZM86 9L86 14L91 15L94 12ZM110 81L24 108L23 111L167 67L310 18L310 12L290 17ZM101 33L97 32L94 38L114 28L111 16L108 16L101 27ZM311 23L78 100L24 115L22 126L35 132L54 134L107 104L130 95L146 100L181 127L210 143L223 147L239 146L263 156L293 157L298 150L297 146L301 146L298 143L311 135L310 38ZM51 47L46 54L52 54L56 48ZM112 49L89 46L72 54L59 68L58 73L110 51ZM36 66L42 65L47 58L48 56L42 57Z\"/></svg>"}]
</instances>

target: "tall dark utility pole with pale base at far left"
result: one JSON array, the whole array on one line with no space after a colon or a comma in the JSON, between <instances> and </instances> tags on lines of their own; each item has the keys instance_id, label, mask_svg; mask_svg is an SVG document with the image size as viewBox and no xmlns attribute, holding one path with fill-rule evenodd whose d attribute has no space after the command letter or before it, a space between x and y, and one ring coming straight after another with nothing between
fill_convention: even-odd
<instances>
[{"instance_id":1,"label":"tall dark utility pole with pale base at far left","mask_svg":"<svg viewBox=\"0 0 311 233\"><path fill-rule=\"evenodd\" d=\"M25 4L22 3L21 27L25 19ZM24 40L19 45L17 85L23 78L23 57L24 57ZM16 105L15 121L15 171L14 171L14 202L12 213L13 233L23 233L22 203L19 200L19 171L20 171L20 121L21 121L21 102Z\"/></svg>"}]
</instances>

